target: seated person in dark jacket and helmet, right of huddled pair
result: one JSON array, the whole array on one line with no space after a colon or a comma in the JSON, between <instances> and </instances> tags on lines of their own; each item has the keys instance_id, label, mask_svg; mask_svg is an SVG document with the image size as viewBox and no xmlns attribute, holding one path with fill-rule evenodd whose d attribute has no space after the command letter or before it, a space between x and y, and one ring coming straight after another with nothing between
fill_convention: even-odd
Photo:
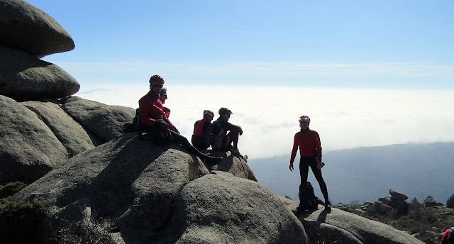
<instances>
[{"instance_id":1,"label":"seated person in dark jacket and helmet, right of huddled pair","mask_svg":"<svg viewBox=\"0 0 454 244\"><path fill-rule=\"evenodd\" d=\"M238 150L238 136L243 134L243 129L228 123L228 119L233 114L230 109L221 108L218 113L219 118L211 125L209 134L211 148L222 152L231 151L233 155L243 157Z\"/></svg>"}]
</instances>

